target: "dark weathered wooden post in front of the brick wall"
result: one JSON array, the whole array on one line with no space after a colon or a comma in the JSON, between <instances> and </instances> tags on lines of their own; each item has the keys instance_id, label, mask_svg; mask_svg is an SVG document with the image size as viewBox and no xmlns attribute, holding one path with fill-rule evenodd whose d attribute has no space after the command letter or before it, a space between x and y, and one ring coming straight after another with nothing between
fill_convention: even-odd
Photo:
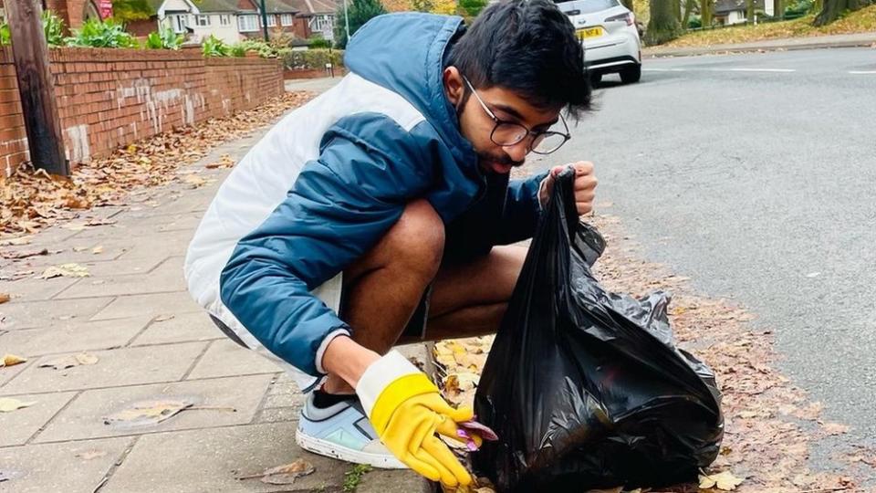
<instances>
[{"instance_id":1,"label":"dark weathered wooden post in front of the brick wall","mask_svg":"<svg viewBox=\"0 0 876 493\"><path fill-rule=\"evenodd\" d=\"M5 0L12 35L18 93L27 131L30 162L48 173L68 176L64 137L48 68L48 45L39 0Z\"/></svg>"}]
</instances>

